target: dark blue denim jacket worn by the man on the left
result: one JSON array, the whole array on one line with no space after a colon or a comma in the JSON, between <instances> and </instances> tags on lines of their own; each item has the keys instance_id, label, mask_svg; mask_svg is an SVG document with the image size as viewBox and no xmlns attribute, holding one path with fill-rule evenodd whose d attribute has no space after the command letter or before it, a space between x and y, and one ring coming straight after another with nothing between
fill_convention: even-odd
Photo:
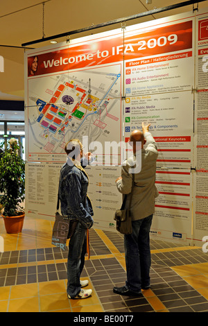
<instances>
[{"instance_id":1,"label":"dark blue denim jacket worn by the man on the left","mask_svg":"<svg viewBox=\"0 0 208 326\"><path fill-rule=\"evenodd\" d=\"M91 228L94 215L87 196L88 177L82 168L65 163L60 171L59 198L64 218L78 220L85 228Z\"/></svg>"}]
</instances>

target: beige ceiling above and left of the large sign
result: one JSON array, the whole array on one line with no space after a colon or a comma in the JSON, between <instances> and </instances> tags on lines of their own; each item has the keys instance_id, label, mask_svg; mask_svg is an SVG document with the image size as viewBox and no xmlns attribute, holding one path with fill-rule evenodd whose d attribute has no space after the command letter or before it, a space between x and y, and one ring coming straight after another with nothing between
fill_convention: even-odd
<instances>
[{"instance_id":1,"label":"beige ceiling above and left of the large sign","mask_svg":"<svg viewBox=\"0 0 208 326\"><path fill-rule=\"evenodd\" d=\"M50 37L60 33L86 28L115 19L128 17L181 3L178 0L0 0L0 55L4 59L4 72L0 72L0 100L24 100L24 51L21 44ZM193 5L194 8L197 5ZM193 6L184 6L174 10L148 15L126 22L126 26L148 22L162 17L177 15L193 10ZM208 0L198 3L199 8L208 7ZM85 33L71 35L71 40L92 33L101 33L121 27L121 23L98 28ZM3 31L3 32L2 32ZM65 41L66 37L57 39ZM37 48L49 45L50 41L32 44ZM1 110L0 114L3 114ZM8 114L8 112L7 112ZM9 114L10 119L16 119ZM19 114L19 112L18 112ZM24 116L24 112L22 112ZM5 116L6 117L6 116ZM1 116L0 116L1 120Z\"/></svg>"}]
</instances>

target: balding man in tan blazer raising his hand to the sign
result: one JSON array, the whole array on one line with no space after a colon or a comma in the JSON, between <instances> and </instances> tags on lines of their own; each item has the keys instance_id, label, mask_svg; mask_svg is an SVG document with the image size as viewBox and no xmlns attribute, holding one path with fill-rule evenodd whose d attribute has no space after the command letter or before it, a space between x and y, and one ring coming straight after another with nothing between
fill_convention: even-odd
<instances>
[{"instance_id":1,"label":"balding man in tan blazer raising his hand to the sign","mask_svg":"<svg viewBox=\"0 0 208 326\"><path fill-rule=\"evenodd\" d=\"M135 183L132 193L131 215L132 234L124 235L125 265L127 281L125 286L114 287L114 293L120 295L139 295L141 289L150 288L150 226L155 212L155 173L157 147L149 126L142 123L142 132L134 130L130 135L133 155L124 162L121 177L116 180L116 187L121 194L128 194L125 207L128 207L132 188L132 173ZM146 148L144 148L146 144ZM140 153L139 153L140 151ZM141 170L132 169L136 157L141 155Z\"/></svg>"}]
</instances>

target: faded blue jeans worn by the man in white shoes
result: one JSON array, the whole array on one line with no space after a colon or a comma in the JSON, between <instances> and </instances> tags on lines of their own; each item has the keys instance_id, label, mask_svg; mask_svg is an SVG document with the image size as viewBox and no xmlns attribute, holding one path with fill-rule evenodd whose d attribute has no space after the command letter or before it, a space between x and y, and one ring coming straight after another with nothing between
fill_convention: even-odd
<instances>
[{"instance_id":1,"label":"faded blue jeans worn by the man in white shoes","mask_svg":"<svg viewBox=\"0 0 208 326\"><path fill-rule=\"evenodd\" d=\"M69 255L67 260L67 293L75 297L81 289L80 274L85 264L87 252L86 228L78 223L76 231L69 241Z\"/></svg>"}]
</instances>

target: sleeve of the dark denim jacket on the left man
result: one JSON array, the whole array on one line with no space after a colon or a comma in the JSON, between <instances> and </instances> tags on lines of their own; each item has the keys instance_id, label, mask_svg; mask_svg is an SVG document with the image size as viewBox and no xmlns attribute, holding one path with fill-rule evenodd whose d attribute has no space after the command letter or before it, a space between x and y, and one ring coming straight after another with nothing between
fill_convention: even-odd
<instances>
[{"instance_id":1,"label":"sleeve of the dark denim jacket on the left man","mask_svg":"<svg viewBox=\"0 0 208 326\"><path fill-rule=\"evenodd\" d=\"M67 205L71 213L78 218L81 224L86 228L91 228L93 225L93 218L87 212L82 203L81 196L81 180L79 175L71 173L65 180L65 191L67 193Z\"/></svg>"}]
</instances>

